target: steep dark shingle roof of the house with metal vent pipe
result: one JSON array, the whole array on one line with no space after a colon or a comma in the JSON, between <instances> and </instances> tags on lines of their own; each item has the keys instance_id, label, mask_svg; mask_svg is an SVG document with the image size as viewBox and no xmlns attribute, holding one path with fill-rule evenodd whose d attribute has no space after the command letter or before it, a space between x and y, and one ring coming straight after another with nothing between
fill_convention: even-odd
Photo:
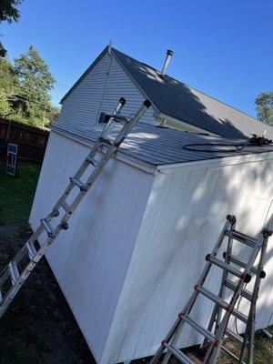
<instances>
[{"instance_id":1,"label":"steep dark shingle roof of the house with metal vent pipe","mask_svg":"<svg viewBox=\"0 0 273 364\"><path fill-rule=\"evenodd\" d=\"M261 136L267 129L267 137L273 138L273 126L227 106L175 78L167 75L162 77L155 68L112 49L119 62L161 113L218 136L237 139L252 134Z\"/></svg>"}]
</instances>

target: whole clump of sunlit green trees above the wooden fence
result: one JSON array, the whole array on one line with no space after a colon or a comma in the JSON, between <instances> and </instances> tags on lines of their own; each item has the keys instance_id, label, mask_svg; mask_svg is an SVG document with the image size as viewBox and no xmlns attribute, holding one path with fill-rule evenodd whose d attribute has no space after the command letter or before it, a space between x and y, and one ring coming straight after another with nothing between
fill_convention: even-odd
<instances>
[{"instance_id":1,"label":"whole clump of sunlit green trees above the wooden fence","mask_svg":"<svg viewBox=\"0 0 273 364\"><path fill-rule=\"evenodd\" d=\"M33 45L18 58L15 66L0 58L0 116L29 125L46 126L56 118L49 91L55 79Z\"/></svg>"}]
</instances>

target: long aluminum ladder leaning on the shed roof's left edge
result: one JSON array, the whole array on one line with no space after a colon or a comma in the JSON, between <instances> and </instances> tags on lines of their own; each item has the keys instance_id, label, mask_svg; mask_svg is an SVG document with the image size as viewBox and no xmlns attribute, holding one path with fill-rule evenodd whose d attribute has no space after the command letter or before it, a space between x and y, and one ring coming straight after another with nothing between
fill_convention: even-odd
<instances>
[{"instance_id":1,"label":"long aluminum ladder leaning on the shed roof's left edge","mask_svg":"<svg viewBox=\"0 0 273 364\"><path fill-rule=\"evenodd\" d=\"M9 307L15 295L25 283L26 278L29 277L36 264L45 255L47 248L55 241L61 230L68 228L68 219L72 216L83 197L85 197L88 189L93 186L108 160L114 156L128 133L151 105L150 101L146 100L136 111L135 115L126 118L120 115L120 110L125 104L126 100L122 97L113 115L106 116L105 121L100 120L100 122L106 122L106 126L98 136L94 147L92 147L90 153L78 168L76 175L69 178L70 182L65 192L57 200L52 211L45 218L41 218L39 226L26 241L25 246L21 248L15 258L0 273L0 318L4 315L6 308ZM96 157L98 152L103 152L101 158ZM87 173L88 167L91 167L88 177L85 180L80 179L84 178L83 175L85 172ZM66 198L74 188L77 189L76 197L72 203L67 203ZM60 216L61 213L63 216ZM56 217L58 217L60 222L57 223L56 227L53 227L51 220ZM39 247L35 248L36 239L39 237L43 238L41 237L42 233L45 233L45 241L40 241ZM23 265L22 269L20 268L21 265Z\"/></svg>"}]
</instances>

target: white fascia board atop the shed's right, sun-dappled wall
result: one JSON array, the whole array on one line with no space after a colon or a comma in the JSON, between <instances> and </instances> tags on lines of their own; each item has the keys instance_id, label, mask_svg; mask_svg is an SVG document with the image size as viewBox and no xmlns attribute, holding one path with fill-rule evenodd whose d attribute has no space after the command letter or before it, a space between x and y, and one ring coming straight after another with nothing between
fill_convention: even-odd
<instances>
[{"instance_id":1,"label":"white fascia board atop the shed's right, sun-dappled wall","mask_svg":"<svg viewBox=\"0 0 273 364\"><path fill-rule=\"evenodd\" d=\"M255 155L248 154L246 156L236 156L236 157L219 157L206 160L197 160L194 162L161 165L157 166L157 171L160 173L172 174L172 173L183 172L188 169L235 166L235 165L259 162L270 159L273 161L273 152L257 153Z\"/></svg>"}]
</instances>

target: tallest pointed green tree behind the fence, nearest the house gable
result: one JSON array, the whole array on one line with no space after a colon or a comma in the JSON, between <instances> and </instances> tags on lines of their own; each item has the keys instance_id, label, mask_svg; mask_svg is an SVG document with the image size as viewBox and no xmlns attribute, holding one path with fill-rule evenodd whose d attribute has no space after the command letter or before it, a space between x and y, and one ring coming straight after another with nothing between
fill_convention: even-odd
<instances>
[{"instance_id":1,"label":"tallest pointed green tree behind the fence, nearest the house gable","mask_svg":"<svg viewBox=\"0 0 273 364\"><path fill-rule=\"evenodd\" d=\"M21 100L18 112L27 124L46 126L52 107L49 91L54 87L55 79L33 45L15 58L15 75Z\"/></svg>"}]
</instances>

